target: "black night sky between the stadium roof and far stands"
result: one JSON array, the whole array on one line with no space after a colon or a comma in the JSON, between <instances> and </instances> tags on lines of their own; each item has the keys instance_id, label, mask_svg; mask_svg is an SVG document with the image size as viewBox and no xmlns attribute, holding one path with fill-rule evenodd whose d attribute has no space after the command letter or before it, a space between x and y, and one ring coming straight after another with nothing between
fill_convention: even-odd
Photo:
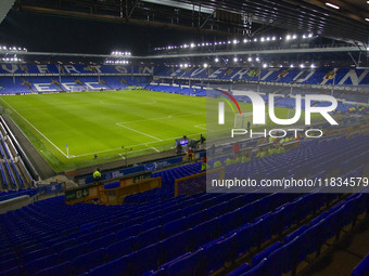
<instances>
[{"instance_id":1,"label":"black night sky between the stadium roof and far stands","mask_svg":"<svg viewBox=\"0 0 369 276\"><path fill-rule=\"evenodd\" d=\"M77 19L12 9L0 25L0 44L31 52L109 54L114 50L147 54L154 47L209 39L199 32Z\"/></svg>"}]
</instances>

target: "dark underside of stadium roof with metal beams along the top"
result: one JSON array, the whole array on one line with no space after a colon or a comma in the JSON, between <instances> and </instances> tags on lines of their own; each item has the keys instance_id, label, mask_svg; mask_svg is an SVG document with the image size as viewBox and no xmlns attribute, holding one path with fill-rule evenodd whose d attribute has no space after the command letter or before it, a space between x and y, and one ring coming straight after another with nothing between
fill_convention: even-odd
<instances>
[{"instance_id":1,"label":"dark underside of stadium roof with metal beams along the top","mask_svg":"<svg viewBox=\"0 0 369 276\"><path fill-rule=\"evenodd\" d=\"M17 0L16 4L23 11L222 35L252 37L278 28L368 42L367 1L327 3L322 0Z\"/></svg>"}]
</instances>

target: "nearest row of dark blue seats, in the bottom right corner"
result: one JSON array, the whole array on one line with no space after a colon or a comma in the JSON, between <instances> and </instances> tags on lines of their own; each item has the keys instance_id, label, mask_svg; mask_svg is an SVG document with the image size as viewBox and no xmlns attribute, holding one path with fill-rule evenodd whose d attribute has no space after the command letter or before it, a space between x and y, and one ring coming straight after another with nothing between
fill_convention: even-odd
<instances>
[{"instance_id":1,"label":"nearest row of dark blue seats, in the bottom right corner","mask_svg":"<svg viewBox=\"0 0 369 276\"><path fill-rule=\"evenodd\" d=\"M295 274L300 263L313 253L319 255L327 240L338 239L346 225L354 226L358 215L368 210L368 194L354 194L287 236L283 244L278 241L255 255L252 267L242 265L228 276L281 276L291 271ZM353 275L365 276L367 268L358 266Z\"/></svg>"}]
</instances>

